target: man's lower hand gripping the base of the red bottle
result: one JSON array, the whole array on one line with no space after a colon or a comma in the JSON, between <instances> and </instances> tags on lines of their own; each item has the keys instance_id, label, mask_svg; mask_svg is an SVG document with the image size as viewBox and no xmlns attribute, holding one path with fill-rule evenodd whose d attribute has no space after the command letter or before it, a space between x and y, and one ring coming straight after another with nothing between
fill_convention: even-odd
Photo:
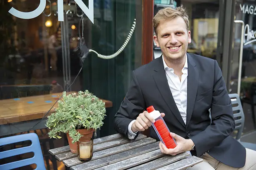
<instances>
[{"instance_id":1,"label":"man's lower hand gripping the base of the red bottle","mask_svg":"<svg viewBox=\"0 0 256 170\"><path fill-rule=\"evenodd\" d=\"M164 143L160 142L159 148L162 153L174 156L185 151L191 151L192 146L194 146L194 142L191 139L182 138L174 133L170 133L170 135L176 140L177 146L173 149L168 149Z\"/></svg>"}]
</instances>

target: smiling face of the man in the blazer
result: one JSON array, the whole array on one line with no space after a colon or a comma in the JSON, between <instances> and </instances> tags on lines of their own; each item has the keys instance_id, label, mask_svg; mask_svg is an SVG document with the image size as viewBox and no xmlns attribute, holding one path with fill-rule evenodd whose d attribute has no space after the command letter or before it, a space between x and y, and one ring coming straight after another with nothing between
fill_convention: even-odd
<instances>
[{"instance_id":1,"label":"smiling face of the man in the blazer","mask_svg":"<svg viewBox=\"0 0 256 170\"><path fill-rule=\"evenodd\" d=\"M186 23L182 17L160 22L154 40L167 60L184 57L188 44L191 43L190 31L186 30Z\"/></svg>"}]
</instances>

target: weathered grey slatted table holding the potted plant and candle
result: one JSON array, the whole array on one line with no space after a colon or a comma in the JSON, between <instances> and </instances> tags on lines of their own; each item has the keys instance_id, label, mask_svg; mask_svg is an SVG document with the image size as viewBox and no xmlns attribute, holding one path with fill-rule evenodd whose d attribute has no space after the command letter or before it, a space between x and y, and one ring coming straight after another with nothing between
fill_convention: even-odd
<instances>
[{"instance_id":1,"label":"weathered grey slatted table holding the potted plant and candle","mask_svg":"<svg viewBox=\"0 0 256 170\"><path fill-rule=\"evenodd\" d=\"M80 161L77 154L70 152L69 146L50 149L49 152L71 170L181 170L203 161L188 152L165 155L159 149L159 141L143 134L139 134L135 141L121 134L97 138L93 147L92 160L88 162Z\"/></svg>"}]
</instances>

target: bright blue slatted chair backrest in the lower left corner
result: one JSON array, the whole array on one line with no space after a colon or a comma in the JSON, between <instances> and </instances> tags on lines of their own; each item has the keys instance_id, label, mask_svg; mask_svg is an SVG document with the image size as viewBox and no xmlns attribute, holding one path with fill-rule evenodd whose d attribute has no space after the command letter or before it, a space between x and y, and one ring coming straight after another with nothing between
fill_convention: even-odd
<instances>
[{"instance_id":1,"label":"bright blue slatted chair backrest in the lower left corner","mask_svg":"<svg viewBox=\"0 0 256 170\"><path fill-rule=\"evenodd\" d=\"M40 147L40 142L37 134L29 133L29 134L22 134L22 135L0 138L0 146L22 142L22 141L28 141L28 140L31 141L30 146L25 146L23 148L16 148L16 149L0 152L0 160L3 158L8 158L11 156L30 153L30 152L33 152L34 156L32 158L27 158L27 159L18 160L15 162L0 165L0 170L10 170L10 169L19 168L26 165L31 165L34 163L37 165L37 168L35 170L46 170L44 158L42 155L42 150Z\"/></svg>"}]
</instances>

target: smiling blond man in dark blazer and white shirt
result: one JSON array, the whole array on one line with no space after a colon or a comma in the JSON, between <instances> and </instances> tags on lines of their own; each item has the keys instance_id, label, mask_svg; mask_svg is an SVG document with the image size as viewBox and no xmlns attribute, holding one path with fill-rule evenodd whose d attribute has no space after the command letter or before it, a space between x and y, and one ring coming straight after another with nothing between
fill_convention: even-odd
<instances>
[{"instance_id":1,"label":"smiling blond man in dark blazer and white shirt","mask_svg":"<svg viewBox=\"0 0 256 170\"><path fill-rule=\"evenodd\" d=\"M160 142L162 153L190 151L204 159L189 170L256 169L256 151L229 136L235 123L218 63L186 53L191 32L184 8L159 10L153 22L154 40L163 54L132 72L131 86L115 115L115 129L135 139L138 131L150 128L150 136L158 139L151 127L154 120L145 111L153 105L177 142L174 149Z\"/></svg>"}]
</instances>

